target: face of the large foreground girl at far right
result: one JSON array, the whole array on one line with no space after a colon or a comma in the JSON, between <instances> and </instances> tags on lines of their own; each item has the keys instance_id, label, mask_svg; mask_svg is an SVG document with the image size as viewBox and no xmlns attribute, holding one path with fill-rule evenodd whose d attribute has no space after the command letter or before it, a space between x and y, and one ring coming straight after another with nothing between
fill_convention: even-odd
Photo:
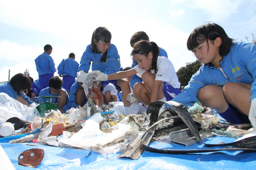
<instances>
[{"instance_id":1,"label":"face of the large foreground girl at far right","mask_svg":"<svg viewBox=\"0 0 256 170\"><path fill-rule=\"evenodd\" d=\"M219 53L219 42L216 40L209 41L208 40L209 47L207 45L207 42L204 41L203 43L199 44L196 48L193 49L193 53L197 57L198 60L205 63L219 63L219 61L222 59Z\"/></svg>"}]
</instances>

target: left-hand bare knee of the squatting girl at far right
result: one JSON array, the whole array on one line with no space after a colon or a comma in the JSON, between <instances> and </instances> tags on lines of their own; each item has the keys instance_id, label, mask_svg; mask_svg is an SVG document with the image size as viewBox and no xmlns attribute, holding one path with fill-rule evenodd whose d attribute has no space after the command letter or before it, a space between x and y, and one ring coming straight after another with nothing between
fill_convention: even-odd
<instances>
[{"instance_id":1,"label":"left-hand bare knee of the squatting girl at far right","mask_svg":"<svg viewBox=\"0 0 256 170\"><path fill-rule=\"evenodd\" d=\"M228 102L221 86L204 86L198 91L197 98L204 106L214 108L219 113L225 112L228 108Z\"/></svg>"}]
</instances>

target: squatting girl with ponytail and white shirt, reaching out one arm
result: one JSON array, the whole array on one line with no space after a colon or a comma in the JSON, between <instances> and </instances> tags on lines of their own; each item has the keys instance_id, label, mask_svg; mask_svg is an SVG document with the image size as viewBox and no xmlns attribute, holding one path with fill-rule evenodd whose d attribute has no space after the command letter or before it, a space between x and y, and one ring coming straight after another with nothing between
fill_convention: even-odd
<instances>
[{"instance_id":1,"label":"squatting girl with ponytail and white shirt, reaching out one arm","mask_svg":"<svg viewBox=\"0 0 256 170\"><path fill-rule=\"evenodd\" d=\"M97 74L96 81L122 79L137 74L143 83L136 83L133 92L141 103L147 107L151 102L169 101L181 93L180 83L173 63L158 55L159 48L155 42L141 40L134 44L131 53L133 60L138 62L134 68L111 75L97 71L92 74Z\"/></svg>"}]
</instances>

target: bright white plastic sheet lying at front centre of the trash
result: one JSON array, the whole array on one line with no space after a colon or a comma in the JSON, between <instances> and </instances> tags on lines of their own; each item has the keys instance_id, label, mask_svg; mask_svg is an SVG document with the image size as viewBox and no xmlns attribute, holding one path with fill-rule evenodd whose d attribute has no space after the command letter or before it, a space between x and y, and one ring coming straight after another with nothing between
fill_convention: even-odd
<instances>
[{"instance_id":1,"label":"bright white plastic sheet lying at front centre of the trash","mask_svg":"<svg viewBox=\"0 0 256 170\"><path fill-rule=\"evenodd\" d=\"M127 124L128 120L129 118L125 117L121 122L112 127L113 130L111 133L104 133L99 130L99 124L93 119L90 119L87 120L85 126L73 136L67 137L68 135L66 134L63 135L63 137L58 137L57 139L59 143L64 143L76 148L90 148L91 150L99 153L109 154L113 152L120 152L126 148L127 143L122 144L123 148L120 148L119 145L119 147L113 147L113 150L104 150L103 147L109 143L114 145L120 140L127 138L124 136L129 130L131 130L131 126ZM135 133L135 131L133 131L133 133Z\"/></svg>"}]
</instances>

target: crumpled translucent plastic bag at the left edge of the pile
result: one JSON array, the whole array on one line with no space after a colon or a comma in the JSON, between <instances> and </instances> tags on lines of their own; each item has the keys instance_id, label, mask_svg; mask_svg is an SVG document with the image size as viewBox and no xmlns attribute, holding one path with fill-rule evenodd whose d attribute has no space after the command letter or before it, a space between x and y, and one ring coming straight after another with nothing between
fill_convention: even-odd
<instances>
[{"instance_id":1,"label":"crumpled translucent plastic bag at the left edge of the pile","mask_svg":"<svg viewBox=\"0 0 256 170\"><path fill-rule=\"evenodd\" d=\"M35 107L38 104L31 104L30 107L16 101L8 94L0 93L0 124L6 122L11 117L18 117L24 120L33 121L35 117L40 117L38 110Z\"/></svg>"}]
</instances>

